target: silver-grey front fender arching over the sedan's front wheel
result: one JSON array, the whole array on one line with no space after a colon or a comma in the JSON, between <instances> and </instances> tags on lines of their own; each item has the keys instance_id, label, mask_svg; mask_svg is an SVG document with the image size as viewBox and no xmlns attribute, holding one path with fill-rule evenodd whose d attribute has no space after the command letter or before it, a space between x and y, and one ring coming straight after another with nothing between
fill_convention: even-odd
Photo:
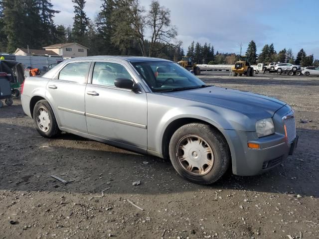
<instances>
[{"instance_id":1,"label":"silver-grey front fender arching over the sedan's front wheel","mask_svg":"<svg viewBox=\"0 0 319 239\"><path fill-rule=\"evenodd\" d=\"M250 119L244 114L178 98L170 98L168 102L162 101L166 102L165 105L155 104L153 100L156 98L154 95L148 95L148 149L151 151L163 153L165 131L170 124L180 119L198 119L218 129L255 131L255 119Z\"/></svg>"}]
</instances>

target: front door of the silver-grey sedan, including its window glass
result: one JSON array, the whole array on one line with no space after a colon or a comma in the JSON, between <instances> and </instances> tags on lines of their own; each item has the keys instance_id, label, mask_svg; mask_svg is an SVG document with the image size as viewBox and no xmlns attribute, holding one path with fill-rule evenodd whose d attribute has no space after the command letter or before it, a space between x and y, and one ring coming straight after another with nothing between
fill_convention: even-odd
<instances>
[{"instance_id":1,"label":"front door of the silver-grey sedan, including its window glass","mask_svg":"<svg viewBox=\"0 0 319 239\"><path fill-rule=\"evenodd\" d=\"M147 148L147 96L115 87L117 78L134 79L129 67L120 61L94 63L90 84L85 94L88 133Z\"/></svg>"}]
</instances>

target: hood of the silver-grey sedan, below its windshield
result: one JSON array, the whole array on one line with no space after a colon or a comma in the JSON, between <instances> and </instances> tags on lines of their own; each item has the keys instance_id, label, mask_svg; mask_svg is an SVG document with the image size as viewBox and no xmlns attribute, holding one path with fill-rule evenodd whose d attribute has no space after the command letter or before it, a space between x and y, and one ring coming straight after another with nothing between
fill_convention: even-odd
<instances>
[{"instance_id":1,"label":"hood of the silver-grey sedan, below its windshield","mask_svg":"<svg viewBox=\"0 0 319 239\"><path fill-rule=\"evenodd\" d=\"M231 109L254 116L257 120L273 117L276 111L286 105L282 101L267 96L214 86L164 94Z\"/></svg>"}]
</instances>

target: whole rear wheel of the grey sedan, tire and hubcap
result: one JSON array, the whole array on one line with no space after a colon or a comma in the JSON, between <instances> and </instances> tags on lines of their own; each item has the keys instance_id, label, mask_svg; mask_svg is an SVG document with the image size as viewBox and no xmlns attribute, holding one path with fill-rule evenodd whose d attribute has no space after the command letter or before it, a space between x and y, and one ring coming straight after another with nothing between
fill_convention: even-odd
<instances>
[{"instance_id":1,"label":"whole rear wheel of the grey sedan, tire and hubcap","mask_svg":"<svg viewBox=\"0 0 319 239\"><path fill-rule=\"evenodd\" d=\"M60 132L54 113L46 100L38 101L35 104L33 120L36 130L44 137L51 138Z\"/></svg>"}]
</instances>

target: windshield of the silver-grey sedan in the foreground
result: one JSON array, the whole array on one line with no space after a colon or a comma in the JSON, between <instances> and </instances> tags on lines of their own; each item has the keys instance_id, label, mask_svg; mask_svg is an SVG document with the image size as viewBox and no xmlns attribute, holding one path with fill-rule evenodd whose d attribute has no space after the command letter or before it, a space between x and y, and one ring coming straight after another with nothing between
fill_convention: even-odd
<instances>
[{"instance_id":1,"label":"windshield of the silver-grey sedan in the foreground","mask_svg":"<svg viewBox=\"0 0 319 239\"><path fill-rule=\"evenodd\" d=\"M135 69L153 92L181 91L205 87L205 83L173 62L135 62Z\"/></svg>"}]
</instances>

